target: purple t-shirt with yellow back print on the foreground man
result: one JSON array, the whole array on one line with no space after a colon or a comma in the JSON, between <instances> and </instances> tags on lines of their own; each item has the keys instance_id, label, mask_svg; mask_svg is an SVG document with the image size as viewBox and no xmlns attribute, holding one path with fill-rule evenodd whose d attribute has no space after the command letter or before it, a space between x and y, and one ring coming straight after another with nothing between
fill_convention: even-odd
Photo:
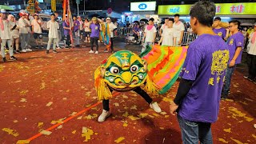
<instances>
[{"instance_id":1,"label":"purple t-shirt with yellow back print on the foreground man","mask_svg":"<svg viewBox=\"0 0 256 144\"><path fill-rule=\"evenodd\" d=\"M178 114L194 122L215 122L218 118L229 50L218 35L202 34L191 42L180 76L194 81L179 105Z\"/></svg>"}]
</instances>

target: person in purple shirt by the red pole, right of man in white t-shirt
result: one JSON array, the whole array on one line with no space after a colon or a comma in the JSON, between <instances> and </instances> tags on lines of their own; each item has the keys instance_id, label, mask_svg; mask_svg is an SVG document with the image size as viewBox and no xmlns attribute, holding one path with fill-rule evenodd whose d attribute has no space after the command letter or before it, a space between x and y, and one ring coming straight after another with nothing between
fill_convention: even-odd
<instances>
[{"instance_id":1,"label":"person in purple shirt by the red pole, right of man in white t-shirt","mask_svg":"<svg viewBox=\"0 0 256 144\"><path fill-rule=\"evenodd\" d=\"M65 18L65 21L62 23L63 29L64 29L64 47L69 48L70 47L70 22L67 18Z\"/></svg>"}]
</instances>

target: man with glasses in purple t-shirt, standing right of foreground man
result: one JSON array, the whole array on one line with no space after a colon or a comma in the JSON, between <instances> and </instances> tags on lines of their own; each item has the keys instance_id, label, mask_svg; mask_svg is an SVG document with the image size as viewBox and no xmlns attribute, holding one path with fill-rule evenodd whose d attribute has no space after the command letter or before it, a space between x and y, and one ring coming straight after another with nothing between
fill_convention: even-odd
<instances>
[{"instance_id":1,"label":"man with glasses in purple t-shirt, standing right of foreground man","mask_svg":"<svg viewBox=\"0 0 256 144\"><path fill-rule=\"evenodd\" d=\"M241 63L242 46L244 46L244 36L238 30L240 22L238 20L232 20L229 23L230 33L232 34L227 40L227 44L230 50L230 60L226 69L225 84L222 89L222 99L227 98L229 94L231 76L234 73L235 66Z\"/></svg>"}]
</instances>

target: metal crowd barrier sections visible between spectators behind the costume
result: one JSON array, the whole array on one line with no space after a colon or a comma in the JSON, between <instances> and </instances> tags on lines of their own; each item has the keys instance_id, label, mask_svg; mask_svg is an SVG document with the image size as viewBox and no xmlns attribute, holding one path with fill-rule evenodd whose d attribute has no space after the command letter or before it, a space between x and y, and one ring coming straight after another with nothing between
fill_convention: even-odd
<instances>
[{"instance_id":1,"label":"metal crowd barrier sections visible between spectators behind the costume","mask_svg":"<svg viewBox=\"0 0 256 144\"><path fill-rule=\"evenodd\" d=\"M133 28L132 27L118 27L117 37L118 38L126 38L127 34L132 34ZM161 36L159 32L156 36L156 41L160 40ZM183 39L182 39L182 46L190 45L190 42L193 42L194 39L198 38L197 34L184 32Z\"/></svg>"}]
</instances>

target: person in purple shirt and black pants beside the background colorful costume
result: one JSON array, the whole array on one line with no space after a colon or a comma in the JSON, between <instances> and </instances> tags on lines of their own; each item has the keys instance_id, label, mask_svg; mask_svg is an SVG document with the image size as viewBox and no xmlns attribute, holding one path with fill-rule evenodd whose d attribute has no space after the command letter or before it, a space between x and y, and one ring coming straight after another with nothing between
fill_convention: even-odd
<instances>
[{"instance_id":1,"label":"person in purple shirt and black pants beside the background colorful costume","mask_svg":"<svg viewBox=\"0 0 256 144\"><path fill-rule=\"evenodd\" d=\"M95 54L98 54L98 38L99 38L99 31L102 30L102 27L99 25L99 22L96 17L91 19L92 23L90 23L90 51L89 53L94 53L94 43L96 45Z\"/></svg>"}]
</instances>

